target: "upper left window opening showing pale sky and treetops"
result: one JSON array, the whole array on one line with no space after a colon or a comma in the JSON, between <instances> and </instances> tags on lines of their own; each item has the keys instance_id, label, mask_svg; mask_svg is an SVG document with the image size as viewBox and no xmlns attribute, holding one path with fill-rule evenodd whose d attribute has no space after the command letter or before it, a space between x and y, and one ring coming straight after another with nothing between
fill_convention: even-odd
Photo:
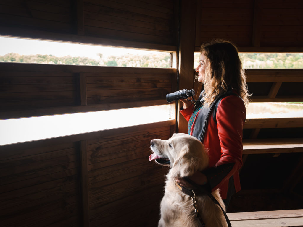
<instances>
[{"instance_id":1,"label":"upper left window opening showing pale sky and treetops","mask_svg":"<svg viewBox=\"0 0 303 227\"><path fill-rule=\"evenodd\" d=\"M0 37L0 62L170 68L169 52Z\"/></svg>"}]
</instances>

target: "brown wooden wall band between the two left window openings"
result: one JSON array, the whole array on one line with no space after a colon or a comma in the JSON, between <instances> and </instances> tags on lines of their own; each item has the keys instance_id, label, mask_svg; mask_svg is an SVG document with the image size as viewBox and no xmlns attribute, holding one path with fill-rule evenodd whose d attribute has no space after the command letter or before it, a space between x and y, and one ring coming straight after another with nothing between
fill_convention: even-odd
<instances>
[{"instance_id":1,"label":"brown wooden wall band between the two left window openings","mask_svg":"<svg viewBox=\"0 0 303 227\"><path fill-rule=\"evenodd\" d=\"M176 69L0 63L0 119L167 104Z\"/></svg>"}]
</instances>

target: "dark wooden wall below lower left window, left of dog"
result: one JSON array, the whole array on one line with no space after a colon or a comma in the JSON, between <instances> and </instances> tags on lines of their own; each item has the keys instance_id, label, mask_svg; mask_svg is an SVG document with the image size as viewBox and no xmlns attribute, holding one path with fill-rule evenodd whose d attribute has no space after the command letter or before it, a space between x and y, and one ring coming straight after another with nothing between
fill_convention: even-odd
<instances>
[{"instance_id":1,"label":"dark wooden wall below lower left window, left of dog","mask_svg":"<svg viewBox=\"0 0 303 227\"><path fill-rule=\"evenodd\" d=\"M1 146L1 226L155 226L175 120Z\"/></svg>"}]
</instances>

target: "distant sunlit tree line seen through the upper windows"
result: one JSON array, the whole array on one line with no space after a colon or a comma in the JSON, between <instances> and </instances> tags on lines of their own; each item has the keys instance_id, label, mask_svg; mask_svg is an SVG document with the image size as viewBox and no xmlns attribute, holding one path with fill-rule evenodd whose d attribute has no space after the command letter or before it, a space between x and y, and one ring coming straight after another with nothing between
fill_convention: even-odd
<instances>
[{"instance_id":1,"label":"distant sunlit tree line seen through the upper windows","mask_svg":"<svg viewBox=\"0 0 303 227\"><path fill-rule=\"evenodd\" d=\"M303 54L240 53L239 55L244 68L303 68ZM125 54L107 58L103 57L103 54L98 54L98 56L99 59L96 60L80 56L56 57L52 54L20 55L9 53L0 56L0 62L169 68L170 61L168 53L149 55ZM198 61L199 54L195 54L194 68L197 66Z\"/></svg>"}]
</instances>

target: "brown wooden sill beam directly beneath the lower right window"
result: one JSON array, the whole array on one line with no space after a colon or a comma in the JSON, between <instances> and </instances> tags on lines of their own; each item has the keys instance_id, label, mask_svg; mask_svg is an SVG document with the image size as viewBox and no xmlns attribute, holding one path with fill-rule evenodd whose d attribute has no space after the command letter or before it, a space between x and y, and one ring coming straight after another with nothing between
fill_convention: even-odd
<instances>
[{"instance_id":1,"label":"brown wooden sill beam directly beneath the lower right window","mask_svg":"<svg viewBox=\"0 0 303 227\"><path fill-rule=\"evenodd\" d=\"M303 127L302 117L247 119L243 128L298 128Z\"/></svg>"}]
</instances>

